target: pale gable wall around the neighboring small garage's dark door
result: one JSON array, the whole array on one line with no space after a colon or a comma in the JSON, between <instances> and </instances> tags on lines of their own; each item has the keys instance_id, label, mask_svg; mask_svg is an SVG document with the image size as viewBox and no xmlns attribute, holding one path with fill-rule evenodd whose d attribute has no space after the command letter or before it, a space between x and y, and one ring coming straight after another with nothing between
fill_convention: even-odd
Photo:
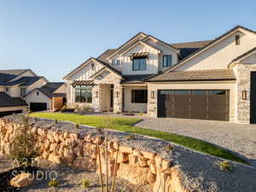
<instances>
[{"instance_id":1,"label":"pale gable wall around the neighboring small garage's dark door","mask_svg":"<svg viewBox=\"0 0 256 192\"><path fill-rule=\"evenodd\" d=\"M37 92L39 92L39 96L37 96ZM31 102L46 102L47 109L51 110L51 99L38 90L34 90L31 94L26 96L25 101L29 105L29 108Z\"/></svg>"}]
</instances>

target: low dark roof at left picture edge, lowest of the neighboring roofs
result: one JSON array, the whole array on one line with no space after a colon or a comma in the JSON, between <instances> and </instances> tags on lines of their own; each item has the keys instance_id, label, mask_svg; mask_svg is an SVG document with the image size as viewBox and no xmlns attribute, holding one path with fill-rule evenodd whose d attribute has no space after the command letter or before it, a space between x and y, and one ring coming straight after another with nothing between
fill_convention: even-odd
<instances>
[{"instance_id":1,"label":"low dark roof at left picture edge, lowest of the neighboring roofs","mask_svg":"<svg viewBox=\"0 0 256 192\"><path fill-rule=\"evenodd\" d=\"M15 107L15 106L27 106L27 104L20 97L11 97L5 92L0 92L0 108Z\"/></svg>"}]
</instances>

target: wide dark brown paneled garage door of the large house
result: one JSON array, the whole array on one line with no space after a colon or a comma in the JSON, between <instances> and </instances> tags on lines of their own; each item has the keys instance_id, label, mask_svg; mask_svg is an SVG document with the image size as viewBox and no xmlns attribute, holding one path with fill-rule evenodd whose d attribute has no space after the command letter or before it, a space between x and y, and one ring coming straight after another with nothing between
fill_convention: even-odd
<instances>
[{"instance_id":1,"label":"wide dark brown paneled garage door of the large house","mask_svg":"<svg viewBox=\"0 0 256 192\"><path fill-rule=\"evenodd\" d=\"M230 119L229 90L158 90L158 117Z\"/></svg>"}]
</instances>

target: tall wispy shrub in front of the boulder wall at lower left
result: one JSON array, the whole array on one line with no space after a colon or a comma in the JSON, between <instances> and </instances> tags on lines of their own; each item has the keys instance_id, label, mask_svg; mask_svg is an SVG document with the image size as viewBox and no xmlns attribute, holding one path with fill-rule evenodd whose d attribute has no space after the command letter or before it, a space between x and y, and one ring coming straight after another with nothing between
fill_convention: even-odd
<instances>
[{"instance_id":1,"label":"tall wispy shrub in front of the boulder wall at lower left","mask_svg":"<svg viewBox=\"0 0 256 192\"><path fill-rule=\"evenodd\" d=\"M15 140L11 141L9 158L19 163L19 166L31 166L32 160L38 157L39 148L36 135L29 131L28 117L22 117L23 125L15 131Z\"/></svg>"}]
</instances>

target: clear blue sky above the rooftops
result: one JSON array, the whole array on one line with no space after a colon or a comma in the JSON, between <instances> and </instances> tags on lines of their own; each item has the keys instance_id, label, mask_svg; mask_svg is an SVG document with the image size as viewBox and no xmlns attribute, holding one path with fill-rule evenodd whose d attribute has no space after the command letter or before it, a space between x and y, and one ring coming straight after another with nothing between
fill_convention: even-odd
<instances>
[{"instance_id":1,"label":"clear blue sky above the rooftops","mask_svg":"<svg viewBox=\"0 0 256 192\"><path fill-rule=\"evenodd\" d=\"M207 40L236 25L256 30L255 18L255 1L0 0L0 68L61 81L137 32L167 43Z\"/></svg>"}]
</instances>

